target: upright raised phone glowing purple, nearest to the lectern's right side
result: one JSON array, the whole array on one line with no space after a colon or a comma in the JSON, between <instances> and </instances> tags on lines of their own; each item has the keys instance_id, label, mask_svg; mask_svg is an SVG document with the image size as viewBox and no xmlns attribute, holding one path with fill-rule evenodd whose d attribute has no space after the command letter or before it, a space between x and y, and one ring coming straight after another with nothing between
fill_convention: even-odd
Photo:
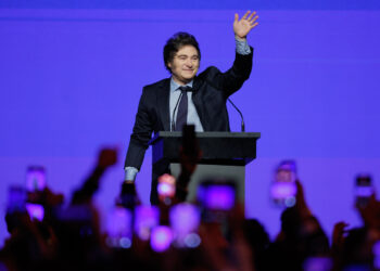
<instances>
[{"instance_id":1,"label":"upright raised phone glowing purple, nearest to the lectern's right side","mask_svg":"<svg viewBox=\"0 0 380 271\"><path fill-rule=\"evenodd\" d=\"M293 160L282 162L275 170L270 197L276 206L292 207L296 195L296 167Z\"/></svg>"}]
</instances>

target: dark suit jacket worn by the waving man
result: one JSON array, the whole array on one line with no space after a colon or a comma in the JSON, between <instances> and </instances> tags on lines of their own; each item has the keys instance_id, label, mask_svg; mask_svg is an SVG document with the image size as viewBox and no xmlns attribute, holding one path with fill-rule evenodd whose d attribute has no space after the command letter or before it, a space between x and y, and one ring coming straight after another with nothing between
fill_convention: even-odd
<instances>
[{"instance_id":1,"label":"dark suit jacket worn by the waving man","mask_svg":"<svg viewBox=\"0 0 380 271\"><path fill-rule=\"evenodd\" d=\"M251 48L251 54L237 53L232 67L226 73L211 66L194 78L192 101L204 131L230 130L226 101L250 77L252 56ZM169 93L170 78L142 89L125 167L140 170L152 132L170 130Z\"/></svg>"}]
</instances>

